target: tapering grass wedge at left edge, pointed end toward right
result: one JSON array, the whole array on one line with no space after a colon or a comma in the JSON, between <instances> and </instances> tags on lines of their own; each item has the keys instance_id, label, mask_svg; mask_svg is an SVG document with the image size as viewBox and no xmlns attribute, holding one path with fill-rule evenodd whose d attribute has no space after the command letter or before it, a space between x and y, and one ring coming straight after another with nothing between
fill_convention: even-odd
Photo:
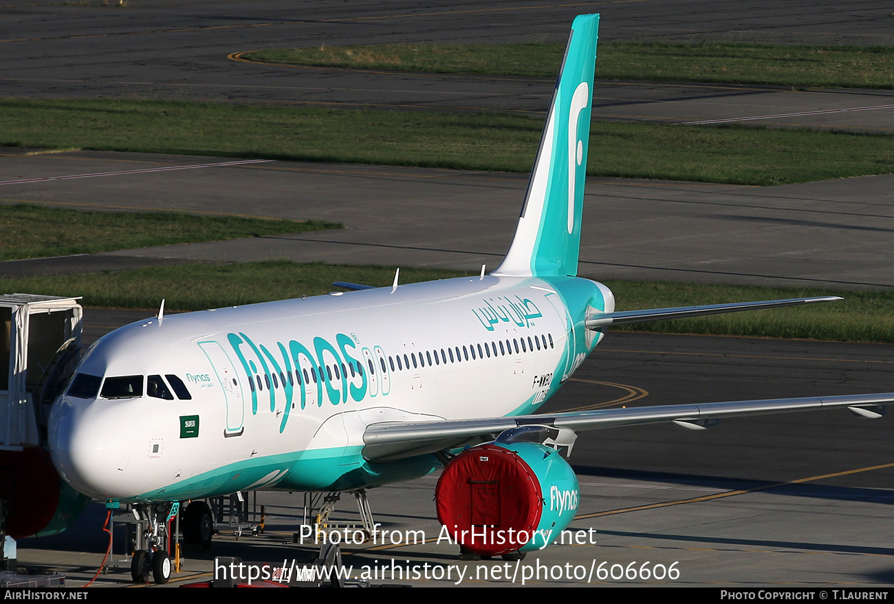
<instances>
[{"instance_id":1,"label":"tapering grass wedge at left edge, pointed end toward right","mask_svg":"<svg viewBox=\"0 0 894 604\"><path fill-rule=\"evenodd\" d=\"M0 260L225 241L341 227L317 220L300 222L180 212L85 212L31 204L0 205Z\"/></svg>"}]
</instances>

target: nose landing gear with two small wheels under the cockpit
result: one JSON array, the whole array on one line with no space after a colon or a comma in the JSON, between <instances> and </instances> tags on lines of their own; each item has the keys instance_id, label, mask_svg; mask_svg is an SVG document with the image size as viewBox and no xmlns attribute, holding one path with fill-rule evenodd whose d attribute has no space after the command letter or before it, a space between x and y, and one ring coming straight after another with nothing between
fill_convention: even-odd
<instances>
[{"instance_id":1,"label":"nose landing gear with two small wheels under the cockpit","mask_svg":"<svg viewBox=\"0 0 894 604\"><path fill-rule=\"evenodd\" d=\"M138 504L133 506L137 526L133 540L131 578L133 583L148 583L149 575L155 583L167 583L171 578L172 563L168 555L171 544L170 525L180 504Z\"/></svg>"}]
</instances>

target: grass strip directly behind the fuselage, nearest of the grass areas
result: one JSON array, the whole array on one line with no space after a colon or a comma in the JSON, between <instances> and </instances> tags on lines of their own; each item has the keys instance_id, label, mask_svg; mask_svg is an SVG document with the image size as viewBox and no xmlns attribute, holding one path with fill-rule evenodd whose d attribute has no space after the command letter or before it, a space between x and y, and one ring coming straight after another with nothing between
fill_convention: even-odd
<instances>
[{"instance_id":1,"label":"grass strip directly behind the fuselage, nearest of the grass areas","mask_svg":"<svg viewBox=\"0 0 894 604\"><path fill-rule=\"evenodd\" d=\"M462 271L401 268L401 283L454 276ZM477 276L477 275L475 275ZM0 291L84 296L89 306L171 311L267 302L333 291L334 281L391 285L394 268L295 264L287 261L233 265L179 265L92 275L33 276L0 280ZM834 292L797 288L606 281L618 310L690 304L746 302ZM258 284L264 284L258 287ZM726 336L770 336L894 343L891 292L839 293L845 299L790 309L738 312L627 326L626 330ZM151 312L151 311L148 311Z\"/></svg>"}]
</instances>

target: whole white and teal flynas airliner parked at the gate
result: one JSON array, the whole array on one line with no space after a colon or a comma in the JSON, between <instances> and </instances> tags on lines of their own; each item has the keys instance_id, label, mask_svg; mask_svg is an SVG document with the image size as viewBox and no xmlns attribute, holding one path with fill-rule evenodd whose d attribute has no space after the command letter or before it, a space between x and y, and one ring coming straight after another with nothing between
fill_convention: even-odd
<instances>
[{"instance_id":1,"label":"whole white and teal flynas airliner parked at the gate","mask_svg":"<svg viewBox=\"0 0 894 604\"><path fill-rule=\"evenodd\" d=\"M656 421L703 428L721 417L827 407L879 416L894 395L533 414L611 325L835 299L615 311L605 285L576 276L597 25L598 15L572 25L518 230L499 268L159 312L117 329L89 348L53 409L49 442L63 478L164 520L172 502L255 489L366 489L446 463L437 491L445 525L533 533L561 530L574 517L577 481L562 454L576 430ZM469 445L477 447L452 457ZM501 497L510 487L511 497ZM192 506L187 531L204 539L207 508ZM153 523L150 537L162 524ZM164 582L168 557L157 540L148 543L134 557L134 578L152 571ZM462 543L484 554L544 545Z\"/></svg>"}]
</instances>

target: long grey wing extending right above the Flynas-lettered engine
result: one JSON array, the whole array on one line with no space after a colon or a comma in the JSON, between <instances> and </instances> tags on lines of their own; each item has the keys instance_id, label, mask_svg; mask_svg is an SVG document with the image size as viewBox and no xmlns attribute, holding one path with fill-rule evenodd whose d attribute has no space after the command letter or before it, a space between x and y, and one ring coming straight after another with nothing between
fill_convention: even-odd
<instances>
[{"instance_id":1,"label":"long grey wing extending right above the Flynas-lettered engine","mask_svg":"<svg viewBox=\"0 0 894 604\"><path fill-rule=\"evenodd\" d=\"M475 445L493 440L503 430L530 425L580 431L672 421L682 427L698 429L710 426L712 421L727 417L841 407L848 408L863 417L877 418L884 413L880 405L889 403L894 403L894 393L667 404L455 421L389 421L367 426L363 435L365 443L363 455L373 462L392 461L412 455Z\"/></svg>"}]
</instances>

